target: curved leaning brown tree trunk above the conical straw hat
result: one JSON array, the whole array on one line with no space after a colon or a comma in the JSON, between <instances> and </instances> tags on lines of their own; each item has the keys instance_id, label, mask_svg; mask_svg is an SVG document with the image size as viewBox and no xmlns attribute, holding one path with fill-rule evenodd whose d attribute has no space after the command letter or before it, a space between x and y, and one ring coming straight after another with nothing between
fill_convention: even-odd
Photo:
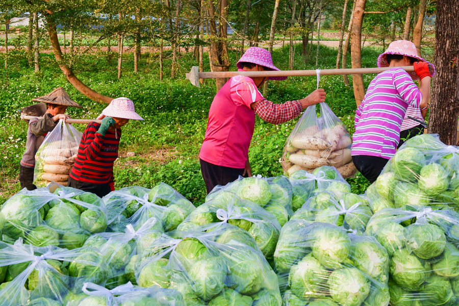
<instances>
[{"instance_id":1,"label":"curved leaning brown tree trunk above the conical straw hat","mask_svg":"<svg viewBox=\"0 0 459 306\"><path fill-rule=\"evenodd\" d=\"M56 24L48 14L44 14L44 16L46 18L46 24L48 27L49 41L51 42L51 45L54 50L54 57L56 58L56 61L59 64L59 68L61 68L62 72L64 72L64 75L67 78L67 80L73 85L73 87L78 89L82 94L84 94L91 100L94 100L96 102L110 103L112 101L112 98L95 92L94 90L89 88L87 85L85 85L77 78L77 76L73 73L71 68L64 64L61 47L59 45L59 40L57 37ZM36 21L36 27L38 28L38 20Z\"/></svg>"}]
</instances>

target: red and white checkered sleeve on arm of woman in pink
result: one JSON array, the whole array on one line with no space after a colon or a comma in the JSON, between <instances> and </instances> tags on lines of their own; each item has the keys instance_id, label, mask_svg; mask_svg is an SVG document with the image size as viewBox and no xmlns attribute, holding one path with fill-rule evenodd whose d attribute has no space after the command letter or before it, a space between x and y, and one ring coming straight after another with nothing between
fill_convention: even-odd
<instances>
[{"instance_id":1,"label":"red and white checkered sleeve on arm of woman in pink","mask_svg":"<svg viewBox=\"0 0 459 306\"><path fill-rule=\"evenodd\" d=\"M272 124L284 123L298 117L302 107L299 101L287 101L284 104L274 104L267 99L258 101L255 112L266 122Z\"/></svg>"}]
</instances>

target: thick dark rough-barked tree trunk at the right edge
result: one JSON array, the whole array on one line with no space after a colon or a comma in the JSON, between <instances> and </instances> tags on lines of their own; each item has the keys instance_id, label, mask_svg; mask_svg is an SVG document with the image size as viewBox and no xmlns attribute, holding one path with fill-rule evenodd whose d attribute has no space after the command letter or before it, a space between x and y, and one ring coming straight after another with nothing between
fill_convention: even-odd
<instances>
[{"instance_id":1,"label":"thick dark rough-barked tree trunk at the right edge","mask_svg":"<svg viewBox=\"0 0 459 306\"><path fill-rule=\"evenodd\" d=\"M454 13L456 12L456 13ZM437 0L435 21L435 51L428 133L440 135L448 145L456 144L457 117L459 116L459 2Z\"/></svg>"}]
</instances>

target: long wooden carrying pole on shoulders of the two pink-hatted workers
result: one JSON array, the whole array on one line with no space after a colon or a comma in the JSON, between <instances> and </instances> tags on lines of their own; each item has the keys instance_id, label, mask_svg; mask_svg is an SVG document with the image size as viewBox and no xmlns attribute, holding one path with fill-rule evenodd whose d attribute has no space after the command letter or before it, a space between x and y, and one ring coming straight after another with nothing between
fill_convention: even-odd
<instances>
[{"instance_id":1,"label":"long wooden carrying pole on shoulders of the two pink-hatted workers","mask_svg":"<svg viewBox=\"0 0 459 306\"><path fill-rule=\"evenodd\" d=\"M320 75L335 75L335 74L364 74L364 73L379 73L392 69L394 67L381 68L351 68L351 69L321 69ZM413 66L397 67L406 70L407 72L414 71ZM236 77L236 75L244 75L245 77L299 77L304 75L317 75L316 70L284 70L284 71L224 71L224 72L199 72L198 66L191 67L191 71L186 74L186 78L191 84L199 87L199 79L224 79Z\"/></svg>"}]
</instances>

